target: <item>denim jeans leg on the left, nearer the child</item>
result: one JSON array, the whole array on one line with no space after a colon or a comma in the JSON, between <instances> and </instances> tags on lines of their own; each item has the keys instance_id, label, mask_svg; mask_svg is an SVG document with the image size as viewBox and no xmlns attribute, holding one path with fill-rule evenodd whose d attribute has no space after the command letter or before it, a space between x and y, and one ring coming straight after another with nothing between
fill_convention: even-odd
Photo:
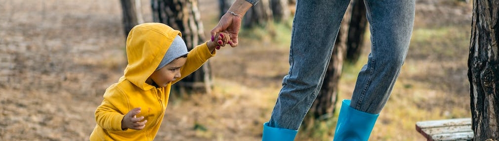
<instances>
[{"instance_id":1,"label":"denim jeans leg on the left, nearer the child","mask_svg":"<svg viewBox=\"0 0 499 141\"><path fill-rule=\"evenodd\" d=\"M297 0L289 72L269 127L297 130L315 100L349 0Z\"/></svg>"}]
</instances>

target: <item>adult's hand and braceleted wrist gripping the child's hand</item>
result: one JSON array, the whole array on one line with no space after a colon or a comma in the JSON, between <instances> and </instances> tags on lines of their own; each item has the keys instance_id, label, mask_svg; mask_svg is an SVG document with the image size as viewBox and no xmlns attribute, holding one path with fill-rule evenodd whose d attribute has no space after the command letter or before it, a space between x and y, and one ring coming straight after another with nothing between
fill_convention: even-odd
<instances>
[{"instance_id":1,"label":"adult's hand and braceleted wrist gripping the child's hand","mask_svg":"<svg viewBox=\"0 0 499 141\"><path fill-rule=\"evenodd\" d=\"M253 4L246 0L236 0L234 3L231 5L228 11L226 12L222 18L220 18L219 23L215 28L212 29L210 32L212 34L212 37L217 35L218 32L227 32L229 33L231 40L229 44L232 47L237 47L238 46L238 34L239 34L239 29L241 28L241 21L243 20L243 17L246 14L246 11L248 11Z\"/></svg>"}]
</instances>

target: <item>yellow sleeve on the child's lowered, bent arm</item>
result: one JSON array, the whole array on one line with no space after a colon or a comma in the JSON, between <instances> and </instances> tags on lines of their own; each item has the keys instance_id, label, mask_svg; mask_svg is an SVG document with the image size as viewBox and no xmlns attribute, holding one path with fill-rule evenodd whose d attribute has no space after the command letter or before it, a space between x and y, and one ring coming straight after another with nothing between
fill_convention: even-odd
<instances>
[{"instance_id":1,"label":"yellow sleeve on the child's lowered, bent arm","mask_svg":"<svg viewBox=\"0 0 499 141\"><path fill-rule=\"evenodd\" d=\"M121 120L130 111L128 103L126 95L116 86L107 89L104 93L104 100L95 110L97 125L108 131L123 131Z\"/></svg>"}]
</instances>

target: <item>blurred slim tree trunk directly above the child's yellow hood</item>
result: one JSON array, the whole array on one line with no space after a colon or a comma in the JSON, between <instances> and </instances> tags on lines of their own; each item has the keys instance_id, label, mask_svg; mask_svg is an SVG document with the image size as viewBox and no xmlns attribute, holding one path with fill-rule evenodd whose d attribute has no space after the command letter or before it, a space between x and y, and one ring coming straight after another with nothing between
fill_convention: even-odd
<instances>
[{"instance_id":1,"label":"blurred slim tree trunk directly above the child's yellow hood","mask_svg":"<svg viewBox=\"0 0 499 141\"><path fill-rule=\"evenodd\" d=\"M125 38L132 28L144 22L141 12L140 0L120 0L123 13L123 33Z\"/></svg>"}]
</instances>

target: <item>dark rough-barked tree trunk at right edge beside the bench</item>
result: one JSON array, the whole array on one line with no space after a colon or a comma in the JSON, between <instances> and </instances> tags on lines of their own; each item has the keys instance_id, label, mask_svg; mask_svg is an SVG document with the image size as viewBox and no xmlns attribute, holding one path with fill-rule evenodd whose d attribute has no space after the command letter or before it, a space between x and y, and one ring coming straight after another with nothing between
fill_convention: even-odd
<instances>
[{"instance_id":1,"label":"dark rough-barked tree trunk at right edge beside the bench","mask_svg":"<svg viewBox=\"0 0 499 141\"><path fill-rule=\"evenodd\" d=\"M498 0L473 0L468 79L474 141L499 139L498 19Z\"/></svg>"}]
</instances>

